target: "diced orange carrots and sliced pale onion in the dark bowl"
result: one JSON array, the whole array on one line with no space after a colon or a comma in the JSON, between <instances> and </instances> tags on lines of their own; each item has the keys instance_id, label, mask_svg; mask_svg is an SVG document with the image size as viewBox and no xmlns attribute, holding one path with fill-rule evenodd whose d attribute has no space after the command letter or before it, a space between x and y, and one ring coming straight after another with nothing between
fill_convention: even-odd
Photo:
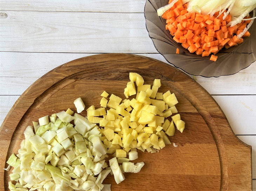
<instances>
[{"instance_id":1,"label":"diced orange carrots and sliced pale onion in the dark bowl","mask_svg":"<svg viewBox=\"0 0 256 191\"><path fill-rule=\"evenodd\" d=\"M250 36L255 7L256 0L169 0L157 14L166 19L166 30L177 43L202 57L211 54L210 60L216 61L215 54L223 47L241 44L242 37Z\"/></svg>"}]
</instances>

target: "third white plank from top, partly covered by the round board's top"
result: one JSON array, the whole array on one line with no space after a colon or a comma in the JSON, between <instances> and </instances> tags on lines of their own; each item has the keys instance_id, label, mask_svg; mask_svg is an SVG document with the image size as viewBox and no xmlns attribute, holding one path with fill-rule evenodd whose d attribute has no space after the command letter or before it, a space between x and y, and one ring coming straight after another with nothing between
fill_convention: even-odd
<instances>
[{"instance_id":1,"label":"third white plank from top, partly covered by the round board's top","mask_svg":"<svg viewBox=\"0 0 256 191\"><path fill-rule=\"evenodd\" d=\"M61 63L91 55L94 54L0 52L0 63L2 63L0 77L19 77L11 80L2 78L2 82L0 82L2 83L1 95L21 95L35 80ZM167 63L161 54L138 55ZM192 77L211 95L256 95L256 62L234 75L220 76L218 78ZM23 82L20 83L20 81Z\"/></svg>"}]
</instances>

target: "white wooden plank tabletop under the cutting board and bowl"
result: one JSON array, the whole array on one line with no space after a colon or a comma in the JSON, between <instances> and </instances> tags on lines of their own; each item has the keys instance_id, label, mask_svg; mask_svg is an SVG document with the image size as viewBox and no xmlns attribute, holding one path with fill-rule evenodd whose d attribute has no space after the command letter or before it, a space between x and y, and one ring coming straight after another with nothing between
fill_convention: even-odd
<instances>
[{"instance_id":1,"label":"white wooden plank tabletop under the cutting board and bowl","mask_svg":"<svg viewBox=\"0 0 256 191\"><path fill-rule=\"evenodd\" d=\"M0 124L18 97L51 69L98 53L166 62L145 27L145 0L1 0ZM191 76L221 106L234 133L252 146L256 190L256 62L219 78Z\"/></svg>"}]
</instances>

